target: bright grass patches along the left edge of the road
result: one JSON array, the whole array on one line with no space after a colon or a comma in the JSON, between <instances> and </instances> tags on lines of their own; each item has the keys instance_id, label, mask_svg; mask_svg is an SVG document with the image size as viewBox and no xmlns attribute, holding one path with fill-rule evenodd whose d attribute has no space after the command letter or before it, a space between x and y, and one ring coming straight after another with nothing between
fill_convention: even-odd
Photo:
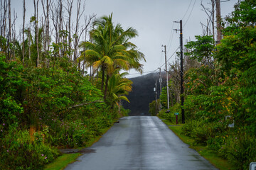
<instances>
[{"instance_id":1,"label":"bright grass patches along the left edge of the road","mask_svg":"<svg viewBox=\"0 0 256 170\"><path fill-rule=\"evenodd\" d=\"M102 134L105 134L105 132L107 132L107 130L109 130L109 129L110 129L110 127L102 129L102 130L100 130L100 132ZM87 142L87 145L85 147L92 146L95 142L100 140L101 137L102 137L102 135L92 138L91 140L89 140ZM82 149L82 148L78 148L78 149ZM72 164L73 162L75 162L76 159L78 159L78 157L80 155L82 155L82 154L80 154L80 153L63 154L60 157L58 157L57 159L55 159L53 162L51 162L50 164L47 164L45 166L44 170L63 170L63 169L65 169L66 166L68 166L68 164Z\"/></svg>"}]
</instances>

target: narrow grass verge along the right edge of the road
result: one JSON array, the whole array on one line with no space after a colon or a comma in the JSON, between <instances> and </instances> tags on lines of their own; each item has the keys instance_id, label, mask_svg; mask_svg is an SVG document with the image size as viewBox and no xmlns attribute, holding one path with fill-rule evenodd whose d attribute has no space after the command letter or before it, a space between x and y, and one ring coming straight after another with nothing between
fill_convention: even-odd
<instances>
[{"instance_id":1,"label":"narrow grass verge along the right edge of the road","mask_svg":"<svg viewBox=\"0 0 256 170\"><path fill-rule=\"evenodd\" d=\"M191 149L195 149L202 157L207 159L211 164L220 170L230 170L234 169L234 166L228 162L228 160L223 159L218 156L218 153L212 149L208 149L206 146L196 145L193 138L182 135L181 129L183 124L171 123L168 120L162 120L169 128L186 144L190 146Z\"/></svg>"}]
</instances>

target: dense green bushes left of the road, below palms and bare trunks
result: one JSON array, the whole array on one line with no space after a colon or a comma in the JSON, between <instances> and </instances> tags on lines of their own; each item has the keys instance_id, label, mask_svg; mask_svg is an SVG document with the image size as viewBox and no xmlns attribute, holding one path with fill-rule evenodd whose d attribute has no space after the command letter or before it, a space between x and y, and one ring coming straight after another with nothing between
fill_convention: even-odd
<instances>
[{"instance_id":1,"label":"dense green bushes left of the road, below palms and bare trunks","mask_svg":"<svg viewBox=\"0 0 256 170\"><path fill-rule=\"evenodd\" d=\"M55 70L24 68L0 57L1 169L38 169L58 156L53 146L86 146L118 116L87 77L61 67L65 62Z\"/></svg>"}]
</instances>

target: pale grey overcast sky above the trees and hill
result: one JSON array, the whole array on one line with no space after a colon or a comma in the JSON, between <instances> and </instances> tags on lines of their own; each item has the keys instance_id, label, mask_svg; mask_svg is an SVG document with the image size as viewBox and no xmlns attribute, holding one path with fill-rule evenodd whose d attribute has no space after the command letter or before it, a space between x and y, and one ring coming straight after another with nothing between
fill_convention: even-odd
<instances>
[{"instance_id":1,"label":"pale grey overcast sky above the trees and hill","mask_svg":"<svg viewBox=\"0 0 256 170\"><path fill-rule=\"evenodd\" d=\"M222 2L221 16L231 13L237 2ZM208 3L210 0L203 0L203 4L210 7ZM18 21L22 21L22 0L11 0L11 6L16 8ZM26 8L26 15L31 17L33 0L26 1ZM179 29L179 23L174 21L183 20L184 43L186 40L195 40L195 35L202 35L200 22L206 23L207 19L206 13L202 11L201 0L86 0L85 13L94 13L97 17L113 13L114 23L121 23L124 29L133 27L139 32L139 36L131 41L146 57L146 62L142 62L145 74L164 64L164 47L161 45L166 45L167 59L178 48L179 33L174 29ZM28 22L28 18L26 20ZM169 62L174 60L175 55ZM128 77L140 75L134 73L134 70L130 71Z\"/></svg>"}]
</instances>

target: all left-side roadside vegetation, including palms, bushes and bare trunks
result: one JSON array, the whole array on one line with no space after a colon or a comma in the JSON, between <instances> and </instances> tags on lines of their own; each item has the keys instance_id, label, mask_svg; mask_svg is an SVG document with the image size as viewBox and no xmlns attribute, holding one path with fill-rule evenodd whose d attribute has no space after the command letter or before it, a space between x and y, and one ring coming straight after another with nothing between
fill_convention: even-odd
<instances>
[{"instance_id":1,"label":"all left-side roadside vegetation, including palms, bushes and bare trunks","mask_svg":"<svg viewBox=\"0 0 256 170\"><path fill-rule=\"evenodd\" d=\"M129 41L137 30L114 25L112 14L90 16L85 26L74 25L80 30L64 27L70 16L60 21L63 13L58 12L65 8L68 13L72 6L60 2L42 1L45 18L39 20L35 11L21 30L23 38L16 38L7 23L1 25L0 169L43 169L57 157L60 168L48 169L62 169L78 154L59 157L58 149L92 145L129 113L121 101L128 101L132 81L120 72L142 72L139 62L144 55ZM4 4L1 17L6 17L9 5ZM82 13L78 11L78 23ZM49 26L55 29L49 31ZM81 40L82 34L87 39Z\"/></svg>"}]
</instances>

